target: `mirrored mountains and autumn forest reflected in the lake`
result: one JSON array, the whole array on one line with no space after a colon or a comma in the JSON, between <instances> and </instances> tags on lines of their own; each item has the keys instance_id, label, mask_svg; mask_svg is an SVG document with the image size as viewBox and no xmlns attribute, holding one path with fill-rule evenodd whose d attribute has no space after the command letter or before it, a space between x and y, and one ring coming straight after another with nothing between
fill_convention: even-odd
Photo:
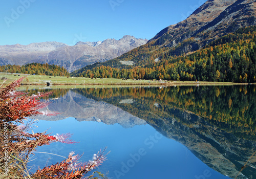
<instances>
[{"instance_id":1,"label":"mirrored mountains and autumn forest reflected in the lake","mask_svg":"<svg viewBox=\"0 0 256 179\"><path fill-rule=\"evenodd\" d=\"M256 146L255 93L255 86L61 89L55 90L49 109L60 111L57 119L75 117L126 128L150 124L209 167L234 178ZM255 163L253 157L248 165ZM256 178L252 167L238 178Z\"/></svg>"}]
</instances>

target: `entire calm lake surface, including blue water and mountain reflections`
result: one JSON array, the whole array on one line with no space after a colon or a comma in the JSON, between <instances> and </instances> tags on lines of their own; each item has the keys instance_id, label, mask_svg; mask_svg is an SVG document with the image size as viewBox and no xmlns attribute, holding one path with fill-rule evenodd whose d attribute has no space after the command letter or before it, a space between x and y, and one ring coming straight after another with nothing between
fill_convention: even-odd
<instances>
[{"instance_id":1,"label":"entire calm lake surface, including blue water and mountain reflections","mask_svg":"<svg viewBox=\"0 0 256 179\"><path fill-rule=\"evenodd\" d=\"M255 87L54 89L48 108L60 115L38 117L34 132L70 132L79 143L37 151L75 151L88 161L108 147L97 170L112 178L235 178L256 148ZM45 153L33 158L34 170L63 160ZM256 157L247 165L237 178L256 178Z\"/></svg>"}]
</instances>

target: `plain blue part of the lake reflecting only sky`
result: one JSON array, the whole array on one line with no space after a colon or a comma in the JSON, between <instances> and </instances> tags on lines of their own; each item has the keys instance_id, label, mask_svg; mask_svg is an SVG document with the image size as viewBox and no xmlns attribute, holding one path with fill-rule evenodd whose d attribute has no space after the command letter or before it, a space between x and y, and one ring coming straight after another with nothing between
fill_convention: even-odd
<instances>
[{"instance_id":1,"label":"plain blue part of the lake reflecting only sky","mask_svg":"<svg viewBox=\"0 0 256 179\"><path fill-rule=\"evenodd\" d=\"M67 157L71 151L83 154L81 161L92 159L98 150L108 147L108 160L96 170L109 173L110 178L229 178L201 162L182 144L162 136L150 125L123 128L119 124L107 125L98 122L78 122L75 118L59 121L41 120L34 132L73 133L77 144L52 143L37 148L38 152L53 153ZM30 166L56 164L65 160L61 156L35 153Z\"/></svg>"}]
</instances>

